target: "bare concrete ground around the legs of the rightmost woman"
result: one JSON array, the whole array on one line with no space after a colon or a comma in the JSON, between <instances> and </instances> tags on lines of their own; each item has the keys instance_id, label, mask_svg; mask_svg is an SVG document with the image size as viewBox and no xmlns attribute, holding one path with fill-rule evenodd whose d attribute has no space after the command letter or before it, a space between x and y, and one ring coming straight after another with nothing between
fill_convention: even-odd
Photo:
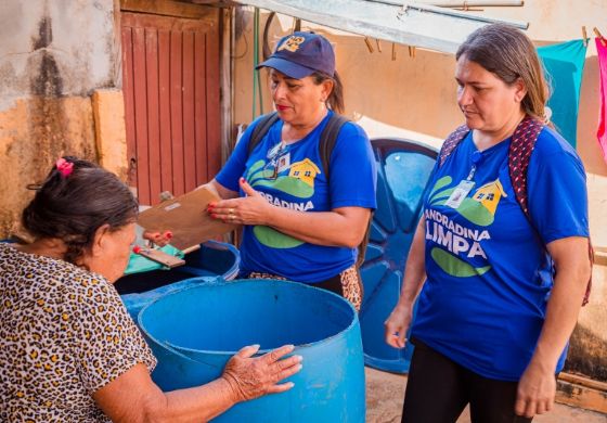
<instances>
[{"instance_id":1,"label":"bare concrete ground around the legs of the rightmost woman","mask_svg":"<svg viewBox=\"0 0 607 423\"><path fill-rule=\"evenodd\" d=\"M406 376L365 368L366 422L400 423ZM469 423L468 410L464 410L457 423ZM607 415L556 403L547 414L538 415L533 423L606 423Z\"/></svg>"}]
</instances>

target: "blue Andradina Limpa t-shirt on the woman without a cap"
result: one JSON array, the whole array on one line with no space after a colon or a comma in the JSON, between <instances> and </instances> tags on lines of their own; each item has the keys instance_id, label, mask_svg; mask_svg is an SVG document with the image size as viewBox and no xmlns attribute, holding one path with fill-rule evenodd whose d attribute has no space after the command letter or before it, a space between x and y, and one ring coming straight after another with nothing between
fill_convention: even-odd
<instances>
[{"instance_id":1,"label":"blue Andradina Limpa t-shirt on the woman without a cap","mask_svg":"<svg viewBox=\"0 0 607 423\"><path fill-rule=\"evenodd\" d=\"M508 175L509 143L481 153L475 185L459 206L452 203L456 208L445 203L470 174L478 152L472 132L435 168L424 210L427 280L412 336L485 377L518 381L534 351L553 286L545 245L589 236L589 222L583 165L560 136L545 128L528 169L531 226Z\"/></svg>"}]
</instances>

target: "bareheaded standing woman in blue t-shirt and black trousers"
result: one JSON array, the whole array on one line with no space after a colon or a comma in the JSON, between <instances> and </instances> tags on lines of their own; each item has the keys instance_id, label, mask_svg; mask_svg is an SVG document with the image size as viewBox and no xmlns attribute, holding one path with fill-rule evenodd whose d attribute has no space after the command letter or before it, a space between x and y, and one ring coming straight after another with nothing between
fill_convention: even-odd
<instances>
[{"instance_id":1,"label":"bareheaded standing woman in blue t-shirt and black trousers","mask_svg":"<svg viewBox=\"0 0 607 423\"><path fill-rule=\"evenodd\" d=\"M545 125L548 89L520 30L488 25L456 53L453 132L430 178L386 342L419 294L403 422L529 422L554 402L590 272L585 172Z\"/></svg>"}]
</instances>

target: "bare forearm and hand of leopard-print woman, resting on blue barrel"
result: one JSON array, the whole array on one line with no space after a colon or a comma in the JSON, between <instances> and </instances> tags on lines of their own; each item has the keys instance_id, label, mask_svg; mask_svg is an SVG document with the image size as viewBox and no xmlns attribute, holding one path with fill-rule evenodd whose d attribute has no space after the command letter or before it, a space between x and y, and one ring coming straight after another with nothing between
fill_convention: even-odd
<instances>
[{"instance_id":1,"label":"bare forearm and hand of leopard-print woman, resting on blue barrel","mask_svg":"<svg viewBox=\"0 0 607 423\"><path fill-rule=\"evenodd\" d=\"M279 384L301 370L301 357L283 358L293 345L253 357L259 345L241 349L228 361L223 374L205 385L163 393L138 363L93 394L113 422L208 422L237 402L288 390Z\"/></svg>"}]
</instances>

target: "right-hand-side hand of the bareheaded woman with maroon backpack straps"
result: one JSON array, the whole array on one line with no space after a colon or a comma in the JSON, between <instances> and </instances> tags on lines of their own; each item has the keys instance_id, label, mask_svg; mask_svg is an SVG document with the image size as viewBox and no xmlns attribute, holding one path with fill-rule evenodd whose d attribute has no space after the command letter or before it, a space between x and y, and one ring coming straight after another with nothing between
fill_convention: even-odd
<instances>
[{"instance_id":1,"label":"right-hand-side hand of the bareheaded woman with maroon backpack straps","mask_svg":"<svg viewBox=\"0 0 607 423\"><path fill-rule=\"evenodd\" d=\"M554 367L539 366L531 360L518 382L515 412L526 418L543 414L552 410L555 395Z\"/></svg>"}]
</instances>

